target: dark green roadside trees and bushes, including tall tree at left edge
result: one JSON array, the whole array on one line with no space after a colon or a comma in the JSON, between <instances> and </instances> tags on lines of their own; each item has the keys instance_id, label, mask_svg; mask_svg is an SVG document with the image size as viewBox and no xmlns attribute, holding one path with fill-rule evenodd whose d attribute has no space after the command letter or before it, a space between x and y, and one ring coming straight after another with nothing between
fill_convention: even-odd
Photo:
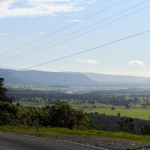
<instances>
[{"instance_id":1,"label":"dark green roadside trees and bushes, including tall tree at left edge","mask_svg":"<svg viewBox=\"0 0 150 150\"><path fill-rule=\"evenodd\" d=\"M46 105L42 108L22 107L12 104L6 96L6 88L3 86L3 78L0 78L0 125L29 125L51 126L88 129L92 122L87 114L72 108L64 101L57 101L54 105Z\"/></svg>"}]
</instances>

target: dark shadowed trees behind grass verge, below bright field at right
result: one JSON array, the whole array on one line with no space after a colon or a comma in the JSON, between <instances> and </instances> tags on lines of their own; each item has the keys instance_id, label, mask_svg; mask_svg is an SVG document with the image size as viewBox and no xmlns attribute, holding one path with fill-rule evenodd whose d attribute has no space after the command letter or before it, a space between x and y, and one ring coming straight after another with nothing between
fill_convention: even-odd
<instances>
[{"instance_id":1,"label":"dark shadowed trees behind grass verge, below bright field at right","mask_svg":"<svg viewBox=\"0 0 150 150\"><path fill-rule=\"evenodd\" d=\"M97 112L88 115L100 130L150 135L150 121L148 120L121 117L119 113L117 116L98 114Z\"/></svg>"}]
</instances>

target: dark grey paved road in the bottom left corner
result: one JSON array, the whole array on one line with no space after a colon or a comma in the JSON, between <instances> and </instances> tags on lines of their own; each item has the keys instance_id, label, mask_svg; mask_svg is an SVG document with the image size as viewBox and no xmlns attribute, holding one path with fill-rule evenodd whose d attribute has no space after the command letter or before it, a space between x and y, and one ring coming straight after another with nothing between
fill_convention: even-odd
<instances>
[{"instance_id":1,"label":"dark grey paved road in the bottom left corner","mask_svg":"<svg viewBox=\"0 0 150 150\"><path fill-rule=\"evenodd\" d=\"M0 150L107 150L45 137L0 132Z\"/></svg>"}]
</instances>

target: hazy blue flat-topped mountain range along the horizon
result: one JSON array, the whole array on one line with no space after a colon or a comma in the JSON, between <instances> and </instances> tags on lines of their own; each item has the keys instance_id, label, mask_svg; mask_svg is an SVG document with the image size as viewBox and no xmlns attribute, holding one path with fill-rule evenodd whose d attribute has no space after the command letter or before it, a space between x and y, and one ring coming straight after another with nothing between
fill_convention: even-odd
<instances>
[{"instance_id":1,"label":"hazy blue flat-topped mountain range along the horizon","mask_svg":"<svg viewBox=\"0 0 150 150\"><path fill-rule=\"evenodd\" d=\"M15 70L0 69L1 74ZM20 71L4 75L6 84L33 86L150 87L150 78L96 73Z\"/></svg>"}]
</instances>

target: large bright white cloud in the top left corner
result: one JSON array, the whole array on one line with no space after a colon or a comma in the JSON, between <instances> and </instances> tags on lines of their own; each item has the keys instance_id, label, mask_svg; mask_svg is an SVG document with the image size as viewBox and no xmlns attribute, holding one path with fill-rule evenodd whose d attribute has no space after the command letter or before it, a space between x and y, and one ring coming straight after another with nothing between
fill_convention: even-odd
<instances>
[{"instance_id":1,"label":"large bright white cloud in the top left corner","mask_svg":"<svg viewBox=\"0 0 150 150\"><path fill-rule=\"evenodd\" d=\"M78 12L92 0L0 0L0 18Z\"/></svg>"}]
</instances>

